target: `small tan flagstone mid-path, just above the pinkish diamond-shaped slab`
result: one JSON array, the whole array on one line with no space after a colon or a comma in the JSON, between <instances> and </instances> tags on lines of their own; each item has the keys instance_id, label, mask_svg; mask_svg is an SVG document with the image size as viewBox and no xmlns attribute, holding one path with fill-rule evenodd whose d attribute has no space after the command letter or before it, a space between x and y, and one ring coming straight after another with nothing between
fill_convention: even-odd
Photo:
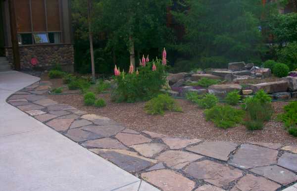
<instances>
[{"instance_id":1,"label":"small tan flagstone mid-path, just above the pinkish diamond-shaped slab","mask_svg":"<svg viewBox=\"0 0 297 191\"><path fill-rule=\"evenodd\" d=\"M162 143L144 143L130 146L134 148L141 155L146 157L152 157L155 154L158 154L166 148L165 144Z\"/></svg>"}]
</instances>

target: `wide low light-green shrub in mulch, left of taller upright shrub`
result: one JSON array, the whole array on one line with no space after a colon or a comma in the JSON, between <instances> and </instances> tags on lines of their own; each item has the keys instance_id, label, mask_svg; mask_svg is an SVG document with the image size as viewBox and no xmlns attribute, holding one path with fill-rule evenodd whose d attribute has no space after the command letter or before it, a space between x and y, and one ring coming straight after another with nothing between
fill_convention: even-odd
<instances>
[{"instance_id":1,"label":"wide low light-green shrub in mulch, left of taller upright shrub","mask_svg":"<svg viewBox=\"0 0 297 191\"><path fill-rule=\"evenodd\" d=\"M235 109L230 105L216 105L204 111L207 121L212 121L217 127L228 129L240 123L244 116L244 111Z\"/></svg>"}]
</instances>

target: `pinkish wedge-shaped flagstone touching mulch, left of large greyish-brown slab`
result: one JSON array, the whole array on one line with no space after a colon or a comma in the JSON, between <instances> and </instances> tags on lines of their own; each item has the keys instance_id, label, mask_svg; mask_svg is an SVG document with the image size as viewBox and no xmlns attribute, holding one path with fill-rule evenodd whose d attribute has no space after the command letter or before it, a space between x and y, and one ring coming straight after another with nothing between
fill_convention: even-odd
<instances>
[{"instance_id":1,"label":"pinkish wedge-shaped flagstone touching mulch, left of large greyish-brown slab","mask_svg":"<svg viewBox=\"0 0 297 191\"><path fill-rule=\"evenodd\" d=\"M201 142L199 139L182 139L182 138L171 138L171 137L166 137L162 138L162 141L167 144L171 149L181 149L189 144L195 144Z\"/></svg>"}]
</instances>

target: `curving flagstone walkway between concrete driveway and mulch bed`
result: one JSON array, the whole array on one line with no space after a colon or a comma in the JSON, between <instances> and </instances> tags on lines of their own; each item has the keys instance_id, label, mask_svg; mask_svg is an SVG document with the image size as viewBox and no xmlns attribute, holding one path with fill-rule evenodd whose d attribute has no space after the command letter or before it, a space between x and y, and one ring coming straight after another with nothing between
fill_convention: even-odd
<instances>
[{"instance_id":1,"label":"curving flagstone walkway between concrete driveway and mulch bed","mask_svg":"<svg viewBox=\"0 0 297 191\"><path fill-rule=\"evenodd\" d=\"M297 191L297 145L210 142L136 132L48 99L44 94L50 86L35 83L7 102L160 190Z\"/></svg>"}]
</instances>

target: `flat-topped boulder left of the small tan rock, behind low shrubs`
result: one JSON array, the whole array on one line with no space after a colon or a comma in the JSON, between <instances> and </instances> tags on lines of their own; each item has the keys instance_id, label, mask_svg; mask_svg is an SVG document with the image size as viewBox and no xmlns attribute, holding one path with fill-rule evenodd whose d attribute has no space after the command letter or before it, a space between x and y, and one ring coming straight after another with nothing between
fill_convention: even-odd
<instances>
[{"instance_id":1,"label":"flat-topped boulder left of the small tan rock, behind low shrubs","mask_svg":"<svg viewBox=\"0 0 297 191\"><path fill-rule=\"evenodd\" d=\"M237 90L241 92L242 86L239 84L222 84L212 85L208 87L208 93L214 94L215 96L224 98L229 92Z\"/></svg>"}]
</instances>

